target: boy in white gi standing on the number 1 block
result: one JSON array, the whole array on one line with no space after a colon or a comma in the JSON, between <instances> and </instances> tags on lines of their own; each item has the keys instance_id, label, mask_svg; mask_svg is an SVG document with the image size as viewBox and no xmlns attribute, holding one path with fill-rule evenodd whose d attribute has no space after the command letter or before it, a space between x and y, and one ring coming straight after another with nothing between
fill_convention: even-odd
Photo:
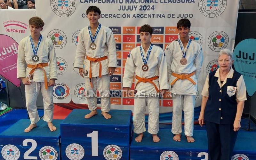
<instances>
[{"instance_id":1,"label":"boy in white gi standing on the number 1 block","mask_svg":"<svg viewBox=\"0 0 256 160\"><path fill-rule=\"evenodd\" d=\"M116 42L111 29L99 23L100 9L96 6L89 6L86 11L90 25L81 29L79 41L76 48L74 67L79 68L79 74L85 77L85 90L102 92L109 91L110 75L113 75L117 67ZM87 98L88 108L91 111L85 115L90 118L97 114L97 98ZM101 114L111 118L110 97L101 96Z\"/></svg>"}]
</instances>

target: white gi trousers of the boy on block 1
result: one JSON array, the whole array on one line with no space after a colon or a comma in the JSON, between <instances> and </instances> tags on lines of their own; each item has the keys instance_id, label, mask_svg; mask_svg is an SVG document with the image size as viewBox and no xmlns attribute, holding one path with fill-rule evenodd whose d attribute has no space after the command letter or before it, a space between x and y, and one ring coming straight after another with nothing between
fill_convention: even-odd
<instances>
[{"instance_id":1,"label":"white gi trousers of the boy on block 1","mask_svg":"<svg viewBox=\"0 0 256 160\"><path fill-rule=\"evenodd\" d=\"M110 84L110 76L103 75L101 77L92 77L92 86L90 84L90 78L85 77L85 90L86 95L90 95L92 92L96 93L96 90L101 91L101 93L108 92L109 93L109 84ZM90 111L97 109L97 97L95 95L87 96L88 108ZM109 112L110 111L110 95L104 95L100 98L101 111Z\"/></svg>"}]
</instances>

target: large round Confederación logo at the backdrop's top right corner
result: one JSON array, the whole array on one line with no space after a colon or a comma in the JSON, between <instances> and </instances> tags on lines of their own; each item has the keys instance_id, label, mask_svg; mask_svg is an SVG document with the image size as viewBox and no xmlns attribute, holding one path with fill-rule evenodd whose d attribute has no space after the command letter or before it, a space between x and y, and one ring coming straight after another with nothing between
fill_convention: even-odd
<instances>
[{"instance_id":1,"label":"large round Confederaci\u00f3n logo at the backdrop's top right corner","mask_svg":"<svg viewBox=\"0 0 256 160\"><path fill-rule=\"evenodd\" d=\"M224 12L227 6L227 0L199 0L198 7L200 12L209 18L219 16Z\"/></svg>"}]
</instances>

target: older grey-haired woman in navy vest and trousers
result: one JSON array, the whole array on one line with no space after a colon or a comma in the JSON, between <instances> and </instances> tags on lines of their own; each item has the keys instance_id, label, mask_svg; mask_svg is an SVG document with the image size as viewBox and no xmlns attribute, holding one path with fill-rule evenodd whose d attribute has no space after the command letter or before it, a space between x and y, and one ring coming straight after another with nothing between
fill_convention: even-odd
<instances>
[{"instance_id":1,"label":"older grey-haired woman in navy vest and trousers","mask_svg":"<svg viewBox=\"0 0 256 160\"><path fill-rule=\"evenodd\" d=\"M219 53L220 68L209 73L202 91L199 124L205 123L209 160L231 159L246 99L243 75L232 69L233 54Z\"/></svg>"}]
</instances>

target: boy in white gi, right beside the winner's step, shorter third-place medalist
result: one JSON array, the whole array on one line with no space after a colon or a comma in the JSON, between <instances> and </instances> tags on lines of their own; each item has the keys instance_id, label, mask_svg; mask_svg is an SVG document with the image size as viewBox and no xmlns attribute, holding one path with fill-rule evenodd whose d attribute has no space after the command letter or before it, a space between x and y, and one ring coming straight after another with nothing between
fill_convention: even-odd
<instances>
[{"instance_id":1,"label":"boy in white gi, right beside the winner's step, shorter third-place medalist","mask_svg":"<svg viewBox=\"0 0 256 160\"><path fill-rule=\"evenodd\" d=\"M135 96L133 110L133 132L139 134L135 141L141 142L145 128L145 110L148 104L148 132L153 141L159 142L159 85L163 94L168 90L167 64L164 50L150 42L153 29L145 24L140 27L141 45L132 49L124 67L123 88L129 91L132 86L134 71ZM159 78L158 78L159 76ZM159 80L159 83L158 83ZM136 93L137 91L137 93ZM146 97L139 97L144 92Z\"/></svg>"}]
</instances>

